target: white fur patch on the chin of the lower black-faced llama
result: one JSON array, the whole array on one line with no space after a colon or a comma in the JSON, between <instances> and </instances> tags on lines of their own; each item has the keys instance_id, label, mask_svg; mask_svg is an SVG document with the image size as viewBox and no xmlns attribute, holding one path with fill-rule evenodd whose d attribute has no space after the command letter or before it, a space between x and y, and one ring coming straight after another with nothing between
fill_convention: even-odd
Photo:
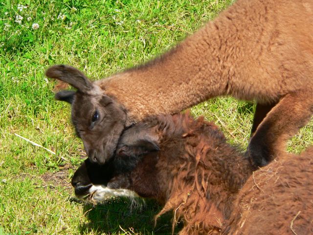
<instances>
[{"instance_id":1,"label":"white fur patch on the chin of the lower black-faced llama","mask_svg":"<svg viewBox=\"0 0 313 235\"><path fill-rule=\"evenodd\" d=\"M103 202L106 199L116 197L138 197L138 194L129 189L111 189L103 185L93 185L89 188L89 196L87 200L95 203Z\"/></svg>"}]
</instances>

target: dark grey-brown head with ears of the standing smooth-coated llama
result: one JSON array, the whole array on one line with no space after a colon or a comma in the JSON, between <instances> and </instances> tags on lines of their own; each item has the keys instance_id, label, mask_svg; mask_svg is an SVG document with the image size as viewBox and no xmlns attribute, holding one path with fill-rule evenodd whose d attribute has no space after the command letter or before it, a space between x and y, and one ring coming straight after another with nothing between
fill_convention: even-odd
<instances>
[{"instance_id":1,"label":"dark grey-brown head with ears of the standing smooth-coated llama","mask_svg":"<svg viewBox=\"0 0 313 235\"><path fill-rule=\"evenodd\" d=\"M76 92L60 91L55 98L71 104L72 123L83 140L90 162L104 164L112 157L124 129L124 108L73 67L56 65L45 74L77 89Z\"/></svg>"}]
</instances>

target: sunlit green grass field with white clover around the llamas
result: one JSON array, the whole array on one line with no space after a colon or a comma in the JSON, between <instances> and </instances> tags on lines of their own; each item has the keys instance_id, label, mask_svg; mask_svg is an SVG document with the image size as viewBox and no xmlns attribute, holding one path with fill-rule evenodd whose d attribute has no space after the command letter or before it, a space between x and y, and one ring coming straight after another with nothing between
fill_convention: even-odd
<instances>
[{"instance_id":1,"label":"sunlit green grass field with white clover around the llamas","mask_svg":"<svg viewBox=\"0 0 313 235\"><path fill-rule=\"evenodd\" d=\"M44 72L68 64L100 79L147 61L197 30L232 0L2 0L0 2L0 235L171 234L154 227L155 202L112 199L84 205L69 185L86 158ZM253 103L217 98L192 109L245 148ZM313 122L289 142L313 142ZM22 136L55 152L35 146ZM181 225L180 225L181 226Z\"/></svg>"}]
</instances>

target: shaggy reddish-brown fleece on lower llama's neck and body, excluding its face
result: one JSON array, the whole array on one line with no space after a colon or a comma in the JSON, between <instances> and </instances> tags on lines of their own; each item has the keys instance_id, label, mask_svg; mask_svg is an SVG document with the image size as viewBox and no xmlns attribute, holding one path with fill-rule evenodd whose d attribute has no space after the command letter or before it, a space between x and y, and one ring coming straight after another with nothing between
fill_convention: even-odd
<instances>
[{"instance_id":1,"label":"shaggy reddish-brown fleece on lower llama's neck and body, excluding its face","mask_svg":"<svg viewBox=\"0 0 313 235\"><path fill-rule=\"evenodd\" d=\"M179 235L277 235L292 234L291 228L298 235L313 233L313 147L280 155L253 172L213 123L188 115L154 122L160 150L134 168L131 189L158 195L165 205L156 219L173 211L173 228L184 221Z\"/></svg>"}]
</instances>

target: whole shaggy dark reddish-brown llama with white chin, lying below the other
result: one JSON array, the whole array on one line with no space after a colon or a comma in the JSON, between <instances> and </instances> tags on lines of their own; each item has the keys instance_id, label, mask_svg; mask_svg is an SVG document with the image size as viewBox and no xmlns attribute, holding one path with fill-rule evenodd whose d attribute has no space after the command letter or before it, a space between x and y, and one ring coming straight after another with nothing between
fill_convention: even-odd
<instances>
[{"instance_id":1,"label":"whole shaggy dark reddish-brown llama with white chin, lying below the other","mask_svg":"<svg viewBox=\"0 0 313 235\"><path fill-rule=\"evenodd\" d=\"M312 157L313 148L281 156L252 174L246 156L213 123L158 116L127 129L106 164L87 159L72 185L93 202L112 195L155 198L164 204L156 218L173 211L173 228L184 221L180 235L307 235L313 232Z\"/></svg>"}]
</instances>

